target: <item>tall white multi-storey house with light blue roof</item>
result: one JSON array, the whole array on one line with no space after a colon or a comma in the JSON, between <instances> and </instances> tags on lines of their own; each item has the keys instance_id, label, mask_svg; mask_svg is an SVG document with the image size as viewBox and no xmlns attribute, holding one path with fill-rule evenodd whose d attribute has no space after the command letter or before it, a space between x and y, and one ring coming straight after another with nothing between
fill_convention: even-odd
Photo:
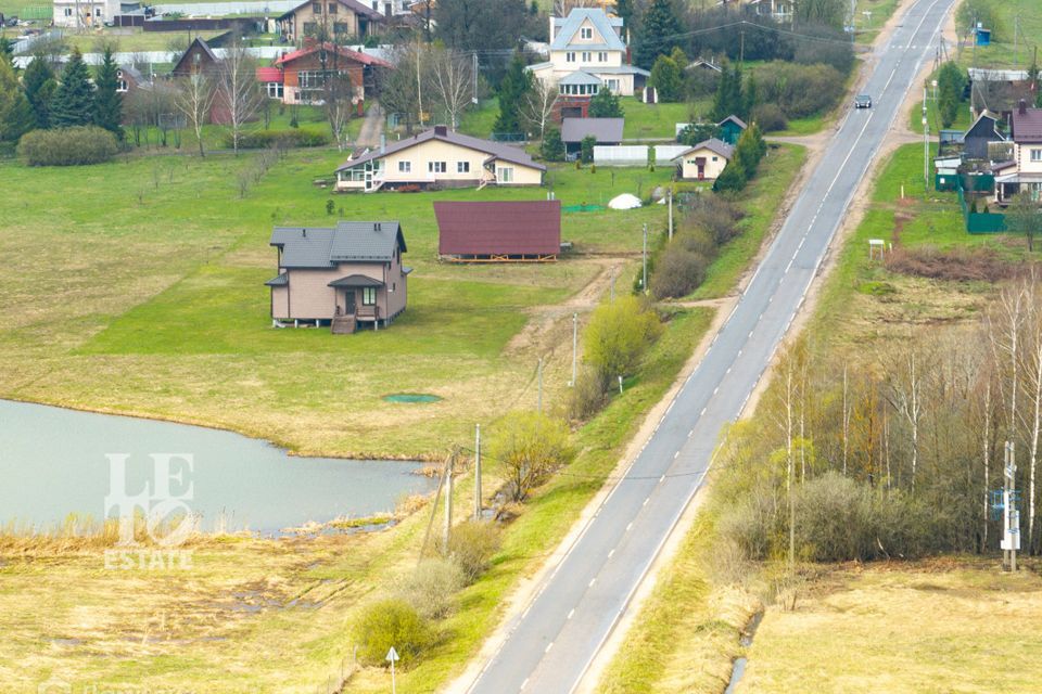
<instances>
[{"instance_id":1,"label":"tall white multi-storey house with light blue roof","mask_svg":"<svg viewBox=\"0 0 1042 694\"><path fill-rule=\"evenodd\" d=\"M550 60L528 69L569 97L589 97L601 88L632 97L649 73L630 64L621 34L621 18L609 17L599 8L575 8L564 18L550 17ZM574 73L582 73L581 85L572 78ZM580 91L568 91L573 87Z\"/></svg>"}]
</instances>

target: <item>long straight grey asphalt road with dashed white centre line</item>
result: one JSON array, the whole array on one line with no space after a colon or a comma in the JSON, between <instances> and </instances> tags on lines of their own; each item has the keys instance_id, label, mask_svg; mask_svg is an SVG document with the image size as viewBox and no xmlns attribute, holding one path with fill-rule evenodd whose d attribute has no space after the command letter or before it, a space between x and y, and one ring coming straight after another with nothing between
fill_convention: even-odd
<instances>
[{"instance_id":1,"label":"long straight grey asphalt road with dashed white centre line","mask_svg":"<svg viewBox=\"0 0 1042 694\"><path fill-rule=\"evenodd\" d=\"M802 305L953 3L918 0L879 49L864 87L874 107L850 111L709 351L470 692L576 689L702 485L721 428L740 414Z\"/></svg>"}]
</instances>

